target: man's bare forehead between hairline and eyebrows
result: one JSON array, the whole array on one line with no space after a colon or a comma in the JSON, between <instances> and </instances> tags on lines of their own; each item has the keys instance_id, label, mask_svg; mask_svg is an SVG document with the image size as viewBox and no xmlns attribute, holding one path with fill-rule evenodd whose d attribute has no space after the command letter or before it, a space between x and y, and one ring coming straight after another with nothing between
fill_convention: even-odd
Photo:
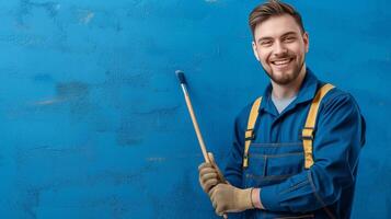
<instances>
[{"instance_id":1,"label":"man's bare forehead between hairline and eyebrows","mask_svg":"<svg viewBox=\"0 0 391 219\"><path fill-rule=\"evenodd\" d=\"M299 24L289 14L271 16L266 21L257 24L254 30L254 38L257 41L261 37L279 37L285 33L294 32L300 34Z\"/></svg>"}]
</instances>

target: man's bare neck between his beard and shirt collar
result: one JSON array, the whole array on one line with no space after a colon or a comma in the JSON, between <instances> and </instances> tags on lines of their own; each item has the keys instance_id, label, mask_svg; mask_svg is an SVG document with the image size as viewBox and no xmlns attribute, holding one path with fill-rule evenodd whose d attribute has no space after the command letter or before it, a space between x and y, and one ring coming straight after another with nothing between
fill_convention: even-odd
<instances>
[{"instance_id":1,"label":"man's bare neck between his beard and shirt collar","mask_svg":"<svg viewBox=\"0 0 391 219\"><path fill-rule=\"evenodd\" d=\"M306 77L306 64L302 65L299 76L288 84L277 84L272 81L272 95L276 99L290 99L297 95Z\"/></svg>"}]
</instances>

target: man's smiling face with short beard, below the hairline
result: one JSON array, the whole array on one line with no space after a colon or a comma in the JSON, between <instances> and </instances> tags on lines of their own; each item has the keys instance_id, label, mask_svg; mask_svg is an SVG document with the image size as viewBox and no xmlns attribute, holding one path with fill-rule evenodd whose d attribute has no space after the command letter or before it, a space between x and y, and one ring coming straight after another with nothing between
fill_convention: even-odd
<instances>
[{"instance_id":1,"label":"man's smiling face with short beard, below the hairline","mask_svg":"<svg viewBox=\"0 0 391 219\"><path fill-rule=\"evenodd\" d=\"M289 14L272 16L256 25L253 49L268 77L285 85L295 81L304 67L309 38Z\"/></svg>"}]
</instances>

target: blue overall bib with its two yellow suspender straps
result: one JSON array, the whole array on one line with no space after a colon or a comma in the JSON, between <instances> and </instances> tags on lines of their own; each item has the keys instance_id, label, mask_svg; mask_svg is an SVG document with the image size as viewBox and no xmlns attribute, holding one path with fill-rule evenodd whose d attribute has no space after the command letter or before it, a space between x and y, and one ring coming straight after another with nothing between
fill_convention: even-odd
<instances>
[{"instance_id":1,"label":"blue overall bib with its two yellow suspender straps","mask_svg":"<svg viewBox=\"0 0 391 219\"><path fill-rule=\"evenodd\" d=\"M245 131L244 158L243 158L243 187L264 187L273 184L279 184L288 177L300 173L313 165L312 141L315 127L317 114L322 97L334 87L323 85L312 101L307 116L306 125L302 129L302 141L277 142L277 143L257 143L254 139L254 127L258 116L258 108L262 97L258 97L251 110L248 130ZM262 123L260 120L258 123ZM308 182L303 182L308 183ZM298 185L300 186L300 184ZM295 189L295 187L289 191ZM287 192L289 192L287 191ZM262 193L262 191L261 191ZM324 209L313 212L275 212L267 210L248 210L244 214L245 219L257 218L333 218L327 217ZM320 216L320 217L319 217ZM323 216L323 217L322 217Z\"/></svg>"}]
</instances>

